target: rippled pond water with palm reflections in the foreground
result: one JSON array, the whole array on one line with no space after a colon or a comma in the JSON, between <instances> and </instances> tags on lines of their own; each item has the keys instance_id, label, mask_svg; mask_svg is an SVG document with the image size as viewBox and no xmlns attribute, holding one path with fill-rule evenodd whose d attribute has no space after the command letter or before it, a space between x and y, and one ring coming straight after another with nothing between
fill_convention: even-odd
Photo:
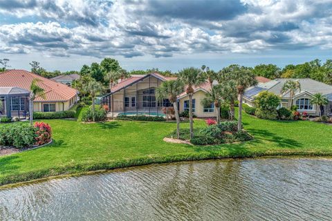
<instances>
[{"instance_id":1,"label":"rippled pond water with palm reflections in the foreground","mask_svg":"<svg viewBox=\"0 0 332 221\"><path fill-rule=\"evenodd\" d=\"M142 166L0 191L0 220L332 220L332 160Z\"/></svg>"}]
</instances>

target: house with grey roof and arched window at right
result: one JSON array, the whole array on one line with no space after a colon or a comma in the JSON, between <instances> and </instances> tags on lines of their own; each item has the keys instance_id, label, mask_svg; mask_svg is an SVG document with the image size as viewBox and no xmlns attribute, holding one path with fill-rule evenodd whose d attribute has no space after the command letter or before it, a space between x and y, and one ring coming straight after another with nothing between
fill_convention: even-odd
<instances>
[{"instance_id":1,"label":"house with grey roof and arched window at right","mask_svg":"<svg viewBox=\"0 0 332 221\"><path fill-rule=\"evenodd\" d=\"M259 83L257 86L248 88L243 97L243 103L249 106L255 106L254 99L263 90L270 91L276 95L281 96L282 102L279 107L290 108L291 97L289 93L282 94L282 87L285 82L289 80L286 78L279 78L268 81L266 83ZM297 111L300 113L308 113L309 115L320 115L320 111L324 115L330 115L332 113L332 86L329 84L324 84L320 81L315 81L309 78L303 79L293 79L299 81L301 85L301 90L297 90L293 96L293 105L297 106ZM311 104L311 97L315 93L322 93L327 99L329 99L329 104L324 106L324 110L320 110L319 106Z\"/></svg>"}]
</instances>

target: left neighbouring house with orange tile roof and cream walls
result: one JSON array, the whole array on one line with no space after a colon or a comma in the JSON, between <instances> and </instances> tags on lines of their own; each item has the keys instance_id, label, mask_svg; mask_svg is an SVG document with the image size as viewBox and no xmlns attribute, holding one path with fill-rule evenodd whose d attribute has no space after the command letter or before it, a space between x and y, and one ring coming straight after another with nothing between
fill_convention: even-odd
<instances>
[{"instance_id":1,"label":"left neighbouring house with orange tile roof and cream walls","mask_svg":"<svg viewBox=\"0 0 332 221\"><path fill-rule=\"evenodd\" d=\"M30 85L35 78L40 79L38 85L44 89L46 99L36 97L33 104L33 111L66 111L77 102L77 90L74 88L35 75L26 70L7 70L0 73L0 87L17 87L30 90ZM17 101L15 100L15 102ZM26 102L22 102L21 99L19 100L21 109L26 110L26 105L28 105ZM15 111L15 106L12 106L11 111Z\"/></svg>"}]
</instances>

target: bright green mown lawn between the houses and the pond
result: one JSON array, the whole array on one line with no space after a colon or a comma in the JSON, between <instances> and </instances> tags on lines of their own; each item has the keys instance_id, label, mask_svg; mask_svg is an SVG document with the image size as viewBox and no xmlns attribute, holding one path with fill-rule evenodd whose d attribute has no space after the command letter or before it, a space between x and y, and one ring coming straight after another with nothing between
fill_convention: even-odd
<instances>
[{"instance_id":1,"label":"bright green mown lawn between the houses and the pond","mask_svg":"<svg viewBox=\"0 0 332 221\"><path fill-rule=\"evenodd\" d=\"M50 175L124 166L263 155L332 155L332 126L315 122L276 122L243 114L244 128L255 140L239 144L190 146L169 144L163 137L176 128L171 122L83 124L45 120L54 143L32 151L0 157L0 185ZM189 127L189 123L181 124ZM205 126L202 120L196 128Z\"/></svg>"}]
</instances>

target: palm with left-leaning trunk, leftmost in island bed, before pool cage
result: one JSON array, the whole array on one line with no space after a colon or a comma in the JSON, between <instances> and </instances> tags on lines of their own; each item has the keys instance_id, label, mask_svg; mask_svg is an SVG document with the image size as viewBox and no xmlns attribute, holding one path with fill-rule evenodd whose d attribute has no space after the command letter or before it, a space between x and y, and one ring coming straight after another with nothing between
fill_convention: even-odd
<instances>
[{"instance_id":1,"label":"palm with left-leaning trunk, leftmost in island bed, before pool cage","mask_svg":"<svg viewBox=\"0 0 332 221\"><path fill-rule=\"evenodd\" d=\"M156 97L158 101L163 102L163 99L166 97L169 99L169 102L173 104L176 118L176 137L180 138L180 117L178 116L178 103L176 102L178 95L183 92L184 85L181 81L171 80L164 81L156 89Z\"/></svg>"}]
</instances>

